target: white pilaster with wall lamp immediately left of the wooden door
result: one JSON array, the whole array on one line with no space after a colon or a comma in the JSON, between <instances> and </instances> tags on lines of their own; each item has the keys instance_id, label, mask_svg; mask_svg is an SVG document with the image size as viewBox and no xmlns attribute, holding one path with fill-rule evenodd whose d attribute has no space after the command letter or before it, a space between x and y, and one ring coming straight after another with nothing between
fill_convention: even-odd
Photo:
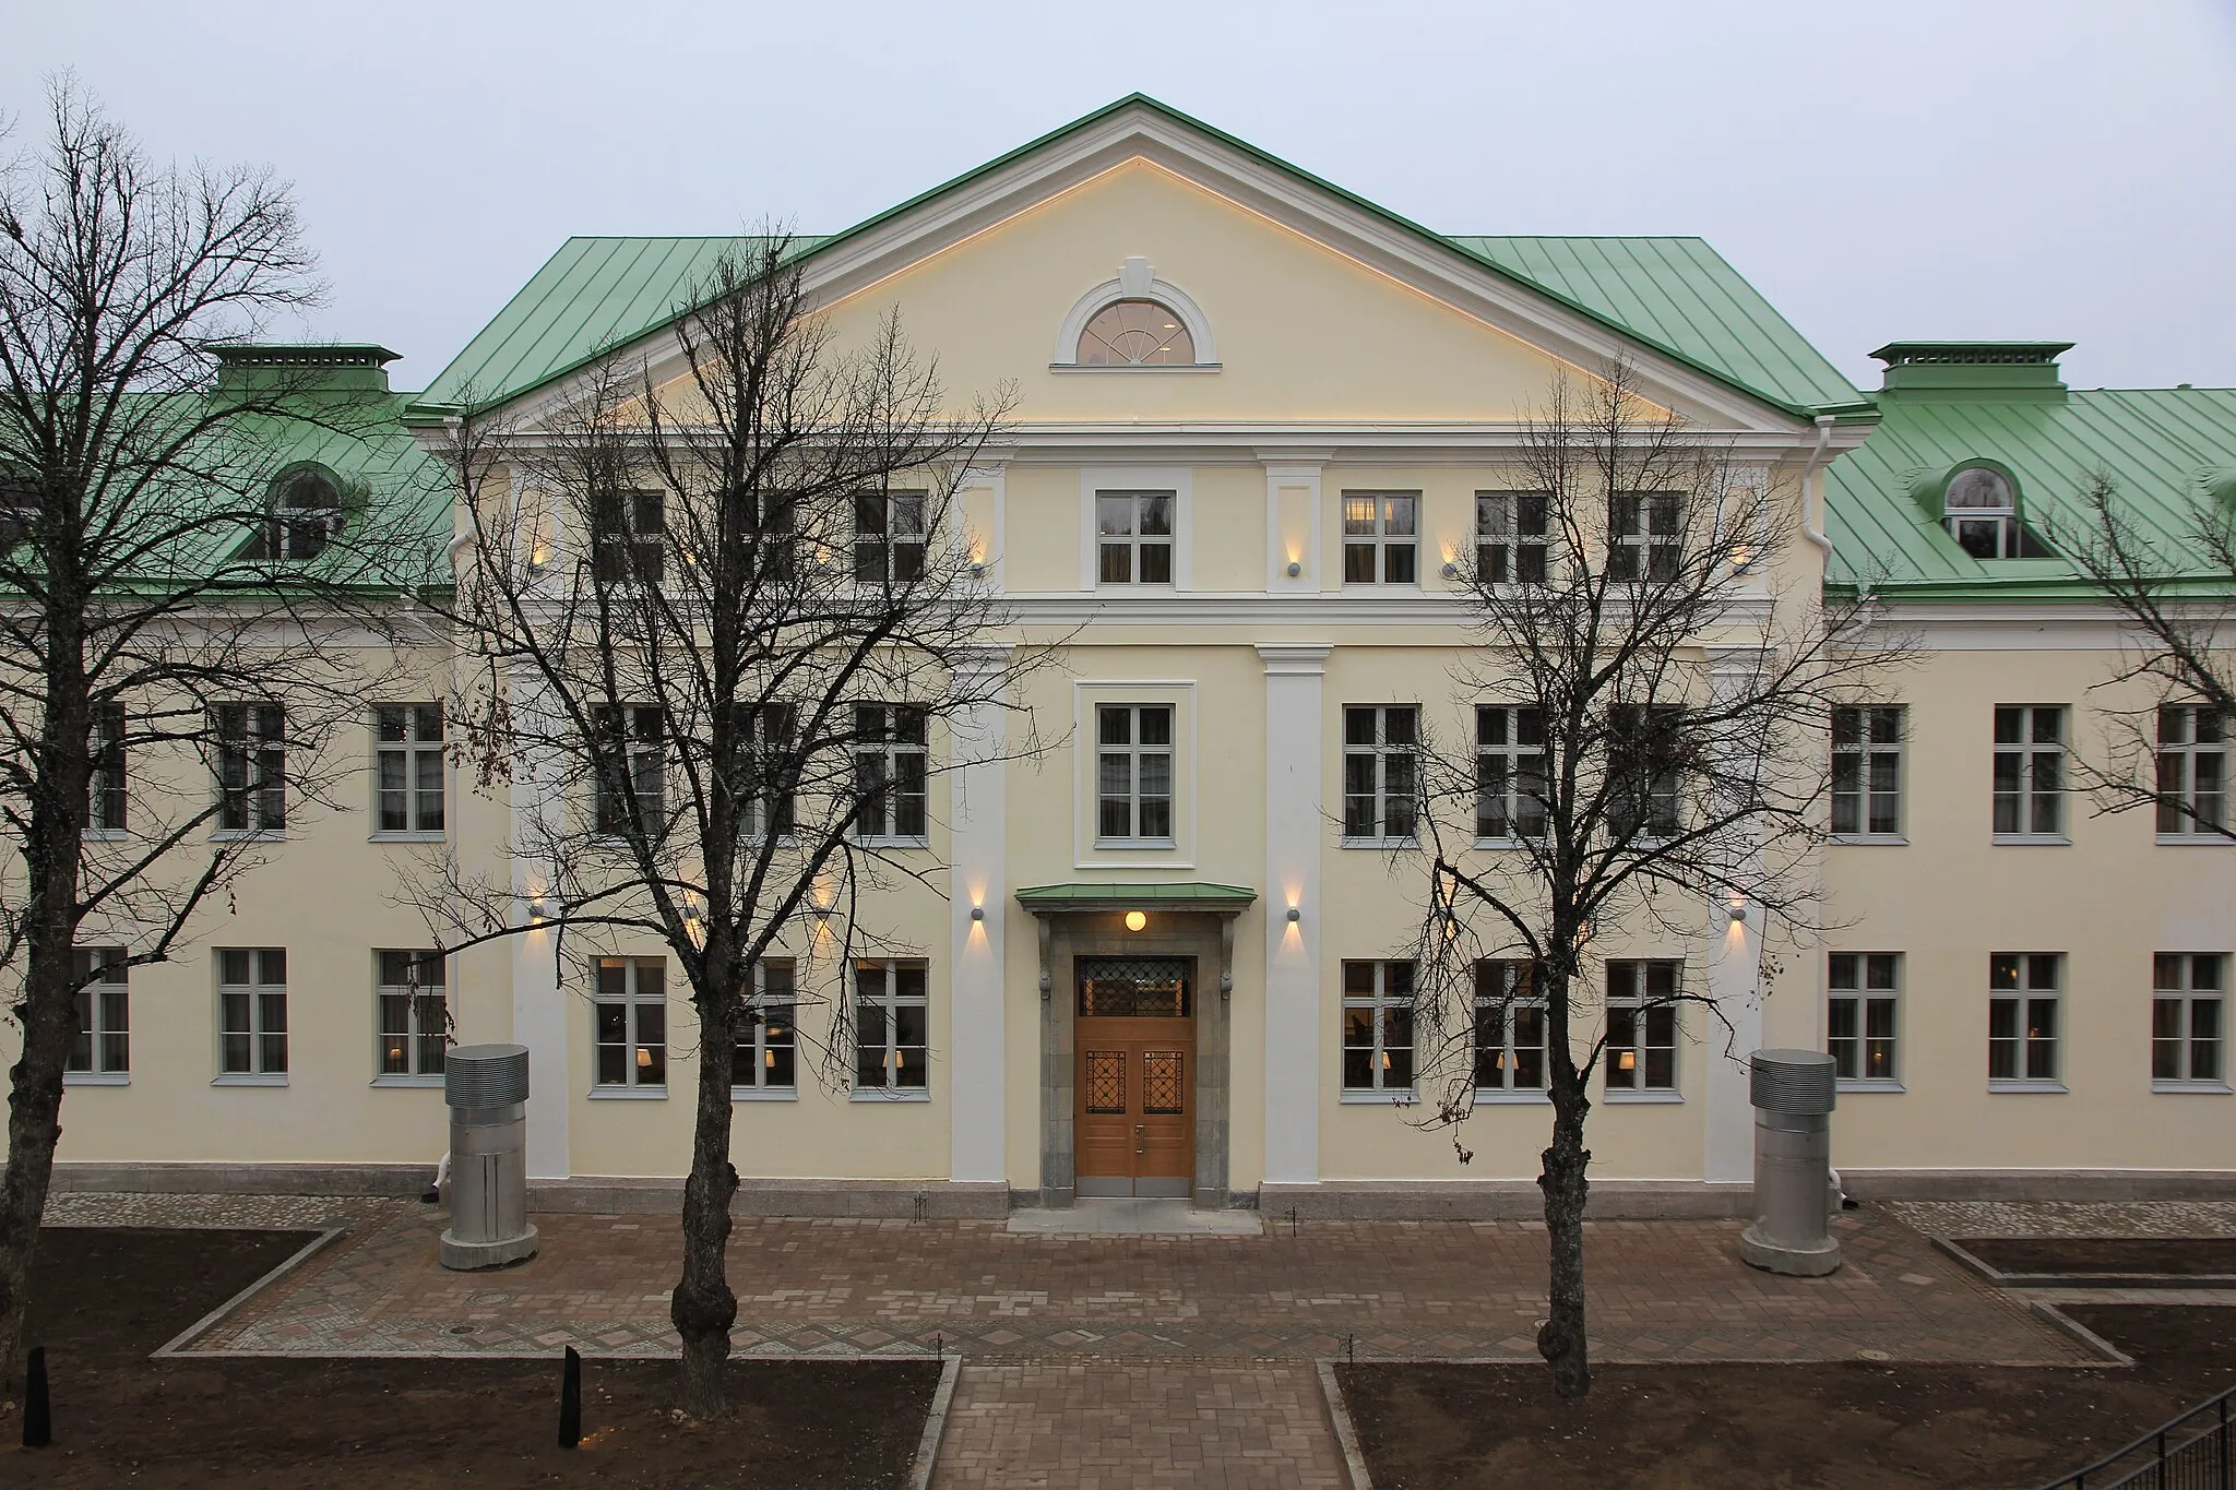
<instances>
[{"instance_id":1,"label":"white pilaster with wall lamp immediately left of the wooden door","mask_svg":"<svg viewBox=\"0 0 2236 1490\"><path fill-rule=\"evenodd\" d=\"M982 693L1008 668L1008 648L984 648L957 663L957 688ZM950 719L948 773L948 1177L999 1184L1008 1177L1004 1115L1004 927L1008 923L1006 762L1008 717L999 704L973 704ZM977 918L973 918L977 914Z\"/></svg>"}]
</instances>

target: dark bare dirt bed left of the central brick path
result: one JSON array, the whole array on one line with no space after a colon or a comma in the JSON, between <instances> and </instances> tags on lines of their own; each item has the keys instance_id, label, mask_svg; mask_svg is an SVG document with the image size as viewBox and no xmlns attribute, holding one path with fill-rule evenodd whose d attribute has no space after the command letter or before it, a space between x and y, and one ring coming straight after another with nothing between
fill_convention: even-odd
<instances>
[{"instance_id":1,"label":"dark bare dirt bed left of the central brick path","mask_svg":"<svg viewBox=\"0 0 2236 1490\"><path fill-rule=\"evenodd\" d=\"M148 1351L309 1238L293 1231L49 1229L29 1345L47 1347L54 1445L9 1486L903 1486L939 1367L740 1360L736 1414L678 1421L669 1363L584 1363L579 1450L557 1448L559 1363L150 1360ZM13 1372L22 1378L20 1363Z\"/></svg>"}]
</instances>

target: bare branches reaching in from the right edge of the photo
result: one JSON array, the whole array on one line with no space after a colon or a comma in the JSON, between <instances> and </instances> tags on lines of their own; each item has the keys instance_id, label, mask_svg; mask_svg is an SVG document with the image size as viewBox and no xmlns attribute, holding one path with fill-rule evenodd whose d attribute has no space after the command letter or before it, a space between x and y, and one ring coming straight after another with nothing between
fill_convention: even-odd
<instances>
[{"instance_id":1,"label":"bare branches reaching in from the right edge of the photo","mask_svg":"<svg viewBox=\"0 0 2236 1490\"><path fill-rule=\"evenodd\" d=\"M2173 534L2171 561L2122 509L2120 485L2104 471L2088 483L2084 516L2053 525L2050 541L2104 592L2126 621L2126 657L2097 688L2104 757L2077 760L2079 784L2100 811L2149 809L2160 833L2236 838L2229 782L2216 746L2236 726L2236 657L2229 655L2229 594L2236 590L2236 485L2200 483L2198 500ZM2129 706L2117 695L2147 695ZM2162 751L2162 746L2178 746ZM2211 771L2211 775L2200 775Z\"/></svg>"}]
</instances>

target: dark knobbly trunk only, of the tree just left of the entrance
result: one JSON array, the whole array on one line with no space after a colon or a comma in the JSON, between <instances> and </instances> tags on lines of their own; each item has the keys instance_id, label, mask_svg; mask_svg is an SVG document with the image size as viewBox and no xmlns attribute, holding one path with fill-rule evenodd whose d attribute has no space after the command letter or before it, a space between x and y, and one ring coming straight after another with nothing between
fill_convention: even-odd
<instances>
[{"instance_id":1,"label":"dark knobbly trunk only, of the tree just left of the entrance","mask_svg":"<svg viewBox=\"0 0 2236 1490\"><path fill-rule=\"evenodd\" d=\"M682 1410L695 1419L718 1419L727 1407L722 1372L729 1363L729 1327L738 1322L738 1296L729 1289L724 1255L729 1202L738 1193L738 1171L729 1162L733 994L736 990L720 987L700 1001L698 1117L691 1130L691 1177L684 1182L684 1276L669 1302L669 1318L684 1345Z\"/></svg>"}]
</instances>

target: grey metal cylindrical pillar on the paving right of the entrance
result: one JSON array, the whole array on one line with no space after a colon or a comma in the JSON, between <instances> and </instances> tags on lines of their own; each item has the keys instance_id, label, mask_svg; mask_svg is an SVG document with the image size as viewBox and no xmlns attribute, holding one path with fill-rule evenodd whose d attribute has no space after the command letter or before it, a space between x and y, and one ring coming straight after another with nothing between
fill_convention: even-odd
<instances>
[{"instance_id":1,"label":"grey metal cylindrical pillar on the paving right of the entrance","mask_svg":"<svg viewBox=\"0 0 2236 1490\"><path fill-rule=\"evenodd\" d=\"M1755 1224L1740 1233L1749 1267L1822 1278L1840 1267L1831 1235L1834 1061L1820 1050L1757 1050L1749 1057L1755 1106Z\"/></svg>"}]
</instances>

